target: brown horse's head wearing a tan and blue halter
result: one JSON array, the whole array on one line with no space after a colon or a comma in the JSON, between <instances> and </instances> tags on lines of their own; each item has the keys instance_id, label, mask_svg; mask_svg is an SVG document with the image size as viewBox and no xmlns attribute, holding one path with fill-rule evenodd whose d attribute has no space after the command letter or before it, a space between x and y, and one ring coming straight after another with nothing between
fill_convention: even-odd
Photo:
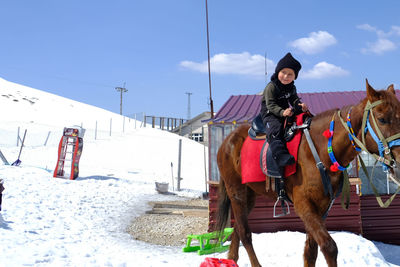
<instances>
[{"instance_id":1,"label":"brown horse's head wearing a tan and blue halter","mask_svg":"<svg viewBox=\"0 0 400 267\"><path fill-rule=\"evenodd\" d=\"M369 152L382 157L390 173L400 179L400 102L393 84L376 91L366 81L363 142Z\"/></svg>"}]
</instances>

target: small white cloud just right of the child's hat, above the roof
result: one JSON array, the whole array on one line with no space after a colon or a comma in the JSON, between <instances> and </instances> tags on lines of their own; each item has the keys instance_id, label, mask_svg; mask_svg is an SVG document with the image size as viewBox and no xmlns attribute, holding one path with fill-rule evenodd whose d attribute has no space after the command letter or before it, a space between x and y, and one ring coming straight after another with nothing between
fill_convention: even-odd
<instances>
[{"instance_id":1,"label":"small white cloud just right of the child's hat, above the roof","mask_svg":"<svg viewBox=\"0 0 400 267\"><path fill-rule=\"evenodd\" d=\"M347 76L349 74L349 71L344 70L341 67L322 61L316 64L311 70L300 73L300 77L304 79L323 79Z\"/></svg>"}]
</instances>

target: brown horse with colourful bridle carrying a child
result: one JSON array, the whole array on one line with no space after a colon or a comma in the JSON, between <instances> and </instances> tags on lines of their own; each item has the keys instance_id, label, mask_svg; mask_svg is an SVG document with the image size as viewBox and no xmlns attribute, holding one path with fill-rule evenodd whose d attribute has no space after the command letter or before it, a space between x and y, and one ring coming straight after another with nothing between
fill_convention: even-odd
<instances>
[{"instance_id":1,"label":"brown horse with colourful bridle carrying a child","mask_svg":"<svg viewBox=\"0 0 400 267\"><path fill-rule=\"evenodd\" d=\"M342 171L332 172L329 169L332 162L327 152L328 139L323 132L329 128L330 121L334 118L335 130L333 135L333 151L336 160L341 166L347 166L359 152L352 145L348 131L341 120L346 119L350 113L351 125L354 129L354 138L357 144L371 154L378 154L377 143L371 136L370 131L363 136L365 122L364 114L375 132L387 144L393 139L398 139L400 133L400 102L395 96L393 85L387 90L376 91L367 81L367 97L359 104L344 107L340 110L329 110L318 114L313 118L310 134L322 163L327 169L333 193L340 190L339 185L343 182ZM217 226L218 230L226 226L229 210L232 207L235 218L235 231L228 258L238 260L238 248L240 241L245 247L250 258L251 265L261 266L253 249L251 231L248 224L248 215L255 204L256 195L267 195L277 198L276 193L266 191L265 182L242 184L240 153L244 140L248 136L249 125L242 125L235 129L223 141L218 150L217 162L220 171L219 184L219 208ZM395 138L392 138L395 137ZM387 141L387 142L386 142ZM396 143L393 147L387 147L387 153L380 160L389 165L389 171L393 174L396 162L400 161L400 147ZM338 249L335 241L329 235L323 215L328 211L331 197L324 194L321 176L316 167L316 162L306 141L302 136L298 152L297 171L294 175L285 178L286 192L293 201L296 214L304 222L306 230L306 243L304 248L304 266L315 266L318 246L325 256L328 266L337 266Z\"/></svg>"}]
</instances>

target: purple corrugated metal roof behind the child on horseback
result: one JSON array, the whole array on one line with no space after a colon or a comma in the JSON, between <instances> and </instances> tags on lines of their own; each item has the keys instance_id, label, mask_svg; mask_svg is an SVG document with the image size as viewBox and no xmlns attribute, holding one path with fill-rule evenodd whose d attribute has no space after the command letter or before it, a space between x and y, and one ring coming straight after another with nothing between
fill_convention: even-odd
<instances>
[{"instance_id":1,"label":"purple corrugated metal roof behind the child on horseback","mask_svg":"<svg viewBox=\"0 0 400 267\"><path fill-rule=\"evenodd\" d=\"M311 113L355 105L366 96L366 91L342 91L321 93L299 93L302 102L307 103ZM396 90L400 100L400 90ZM261 109L262 95L232 95L209 120L213 123L241 123L251 121Z\"/></svg>"}]
</instances>

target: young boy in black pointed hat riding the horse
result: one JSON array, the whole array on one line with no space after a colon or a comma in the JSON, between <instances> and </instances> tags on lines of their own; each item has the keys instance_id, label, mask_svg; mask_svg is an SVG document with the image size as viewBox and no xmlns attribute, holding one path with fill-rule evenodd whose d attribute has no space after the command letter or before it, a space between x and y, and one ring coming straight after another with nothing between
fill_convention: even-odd
<instances>
[{"instance_id":1,"label":"young boy in black pointed hat riding the horse","mask_svg":"<svg viewBox=\"0 0 400 267\"><path fill-rule=\"evenodd\" d=\"M307 105L300 101L294 85L300 69L300 62L292 54L287 53L276 65L275 73L271 76L271 82L265 87L261 101L260 115L265 125L266 138L273 158L273 162L267 162L267 165L272 167L268 168L268 175L281 178L277 181L280 185L277 188L279 197L283 197L282 190L282 194L285 194L282 179L283 167L295 162L283 141L285 118L308 110Z\"/></svg>"}]
</instances>

